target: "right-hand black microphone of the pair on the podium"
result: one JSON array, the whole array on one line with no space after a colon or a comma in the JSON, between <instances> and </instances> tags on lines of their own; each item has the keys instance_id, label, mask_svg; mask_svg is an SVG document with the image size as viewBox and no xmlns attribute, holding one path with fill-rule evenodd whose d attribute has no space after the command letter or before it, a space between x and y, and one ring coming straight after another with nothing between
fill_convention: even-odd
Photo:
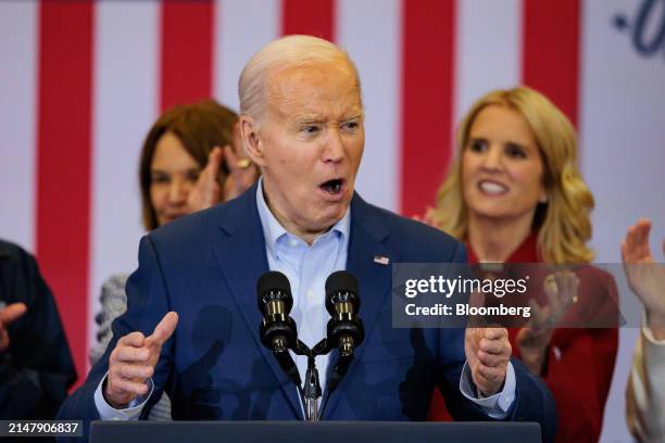
<instances>
[{"instance_id":1,"label":"right-hand black microphone of the pair on the podium","mask_svg":"<svg viewBox=\"0 0 665 443\"><path fill-rule=\"evenodd\" d=\"M351 273L338 270L330 274L326 280L326 309L331 317L327 325L329 346L337 347L341 357L352 357L354 347L365 338L365 331L357 316L357 279Z\"/></svg>"}]
</instances>

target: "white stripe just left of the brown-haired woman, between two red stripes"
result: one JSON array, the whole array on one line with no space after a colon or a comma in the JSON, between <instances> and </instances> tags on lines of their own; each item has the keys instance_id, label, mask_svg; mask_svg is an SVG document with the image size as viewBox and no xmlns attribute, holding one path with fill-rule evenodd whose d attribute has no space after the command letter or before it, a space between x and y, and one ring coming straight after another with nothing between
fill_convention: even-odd
<instances>
[{"instance_id":1,"label":"white stripe just left of the brown-haired woman, between two red stripes","mask_svg":"<svg viewBox=\"0 0 665 443\"><path fill-rule=\"evenodd\" d=\"M137 266L139 153L160 84L158 2L99 2L96 13L89 345L102 282Z\"/></svg>"}]
</instances>

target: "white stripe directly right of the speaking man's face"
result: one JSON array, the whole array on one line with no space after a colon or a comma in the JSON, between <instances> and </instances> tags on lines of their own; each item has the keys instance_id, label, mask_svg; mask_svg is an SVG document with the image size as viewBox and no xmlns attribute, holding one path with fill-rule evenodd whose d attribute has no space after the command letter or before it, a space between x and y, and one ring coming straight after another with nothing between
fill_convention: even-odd
<instances>
[{"instance_id":1,"label":"white stripe directly right of the speaking man's face","mask_svg":"<svg viewBox=\"0 0 665 443\"><path fill-rule=\"evenodd\" d=\"M356 189L397 211L401 140L401 2L338 0L337 42L355 61L365 104L365 153ZM377 13L378 11L378 13Z\"/></svg>"}]
</instances>

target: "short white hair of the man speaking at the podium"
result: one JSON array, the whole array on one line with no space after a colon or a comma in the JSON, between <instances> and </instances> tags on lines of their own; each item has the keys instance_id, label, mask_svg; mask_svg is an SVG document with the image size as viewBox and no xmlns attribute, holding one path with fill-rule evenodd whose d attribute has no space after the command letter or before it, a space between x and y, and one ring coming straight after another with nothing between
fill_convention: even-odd
<instances>
[{"instance_id":1,"label":"short white hair of the man speaking at the podium","mask_svg":"<svg viewBox=\"0 0 665 443\"><path fill-rule=\"evenodd\" d=\"M353 73L359 94L361 93L357 69L347 51L322 38L287 36L263 47L244 65L238 80L240 114L256 121L263 118L267 107L266 83L272 73L322 62L344 63Z\"/></svg>"}]
</instances>

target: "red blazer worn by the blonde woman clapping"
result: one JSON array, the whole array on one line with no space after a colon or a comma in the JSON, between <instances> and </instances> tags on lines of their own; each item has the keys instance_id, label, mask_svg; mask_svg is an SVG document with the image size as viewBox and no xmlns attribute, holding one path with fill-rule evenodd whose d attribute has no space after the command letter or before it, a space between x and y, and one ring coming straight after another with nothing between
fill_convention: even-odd
<instances>
[{"instance_id":1,"label":"red blazer worn by the blonde woman clapping","mask_svg":"<svg viewBox=\"0 0 665 443\"><path fill-rule=\"evenodd\" d=\"M532 233L506 260L506 263L540 263ZM478 263L467 244L470 264ZM579 269L579 299L566 313L584 316L599 311L618 312L617 290L611 275L584 266ZM518 329L509 329L513 356L519 357L515 339ZM548 346L540 375L556 401L559 422L555 442L598 442L605 402L610 392L616 351L617 328L557 328ZM430 420L451 420L438 391L431 401Z\"/></svg>"}]
</instances>

